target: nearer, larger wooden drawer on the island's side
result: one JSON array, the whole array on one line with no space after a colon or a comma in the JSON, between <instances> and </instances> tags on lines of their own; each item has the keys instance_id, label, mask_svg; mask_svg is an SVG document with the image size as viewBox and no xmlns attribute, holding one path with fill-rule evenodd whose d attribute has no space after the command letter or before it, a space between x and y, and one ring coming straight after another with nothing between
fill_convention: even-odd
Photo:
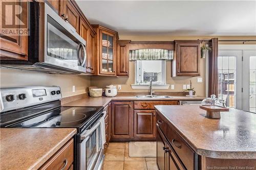
<instances>
[{"instance_id":1,"label":"nearer, larger wooden drawer on the island's side","mask_svg":"<svg viewBox=\"0 0 256 170\"><path fill-rule=\"evenodd\" d=\"M169 125L167 126L167 138L183 164L186 166L186 169L193 170L195 166L195 152L190 149L181 136Z\"/></svg>"}]
</instances>

